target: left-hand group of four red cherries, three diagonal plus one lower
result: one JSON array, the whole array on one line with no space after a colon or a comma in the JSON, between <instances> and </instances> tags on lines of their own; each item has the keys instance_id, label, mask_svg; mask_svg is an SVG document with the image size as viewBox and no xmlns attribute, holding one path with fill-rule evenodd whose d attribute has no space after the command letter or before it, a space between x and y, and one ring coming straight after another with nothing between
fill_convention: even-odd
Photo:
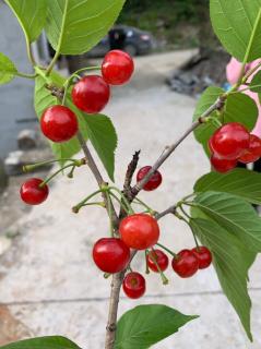
<instances>
[{"instance_id":1,"label":"left-hand group of four red cherries, three diagonal plus one lower","mask_svg":"<svg viewBox=\"0 0 261 349\"><path fill-rule=\"evenodd\" d=\"M82 111L100 112L110 97L110 85L127 83L134 71L132 58L121 51L109 51L102 63L102 76L82 77L72 88L72 101ZM63 143L75 136L79 130L78 117L66 106L51 106L40 118L40 129L47 139ZM39 178L27 180L21 188L21 197L28 205L39 205L48 196L48 185Z\"/></svg>"}]
</instances>

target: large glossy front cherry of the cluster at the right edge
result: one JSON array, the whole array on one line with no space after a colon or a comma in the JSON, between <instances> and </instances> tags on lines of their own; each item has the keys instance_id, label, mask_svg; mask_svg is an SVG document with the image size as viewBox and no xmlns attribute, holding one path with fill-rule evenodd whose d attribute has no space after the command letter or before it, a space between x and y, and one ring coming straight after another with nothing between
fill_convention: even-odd
<instances>
[{"instance_id":1,"label":"large glossy front cherry of the cluster at the right edge","mask_svg":"<svg viewBox=\"0 0 261 349\"><path fill-rule=\"evenodd\" d=\"M212 135L210 146L220 157L238 159L249 147L250 134L238 122L229 122L221 127Z\"/></svg>"}]
</instances>

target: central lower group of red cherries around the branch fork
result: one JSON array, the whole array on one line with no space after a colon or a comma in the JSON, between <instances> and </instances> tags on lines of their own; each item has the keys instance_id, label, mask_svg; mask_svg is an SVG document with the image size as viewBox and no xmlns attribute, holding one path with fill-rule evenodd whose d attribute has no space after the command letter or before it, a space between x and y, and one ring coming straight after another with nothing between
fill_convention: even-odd
<instances>
[{"instance_id":1,"label":"central lower group of red cherries around the branch fork","mask_svg":"<svg viewBox=\"0 0 261 349\"><path fill-rule=\"evenodd\" d=\"M141 168L137 174L137 180L142 180L150 169L151 166ZM156 171L144 190L155 190L161 183L162 174ZM123 218L119 226L119 234L120 239L103 238L94 244L93 258L100 270L115 274L128 268L131 260L131 249L147 252L146 264L150 270L164 273L167 269L169 265L167 254L162 250L153 249L159 239L159 227L153 216L133 214ZM171 253L170 250L166 250ZM177 255L171 253L171 256L173 269L182 278L191 277L199 269L207 268L212 263L212 254L205 246L182 250ZM140 273L131 270L124 276L122 288L127 297L138 299L145 293L145 278Z\"/></svg>"}]
</instances>

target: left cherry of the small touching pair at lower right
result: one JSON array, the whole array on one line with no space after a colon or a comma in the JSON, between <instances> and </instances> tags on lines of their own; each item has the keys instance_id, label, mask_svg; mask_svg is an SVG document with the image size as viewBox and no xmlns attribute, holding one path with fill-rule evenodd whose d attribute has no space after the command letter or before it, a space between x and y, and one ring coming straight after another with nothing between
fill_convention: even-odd
<instances>
[{"instance_id":1,"label":"left cherry of the small touching pair at lower right","mask_svg":"<svg viewBox=\"0 0 261 349\"><path fill-rule=\"evenodd\" d=\"M199 260L190 250L182 250L173 258L173 268L180 277L187 278L199 269Z\"/></svg>"}]
</instances>

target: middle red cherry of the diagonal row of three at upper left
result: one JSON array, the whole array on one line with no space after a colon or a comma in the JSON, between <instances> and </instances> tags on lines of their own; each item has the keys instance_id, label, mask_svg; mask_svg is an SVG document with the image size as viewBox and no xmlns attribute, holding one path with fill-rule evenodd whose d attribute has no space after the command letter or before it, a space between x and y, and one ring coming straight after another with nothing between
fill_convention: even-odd
<instances>
[{"instance_id":1,"label":"middle red cherry of the diagonal row of three at upper left","mask_svg":"<svg viewBox=\"0 0 261 349\"><path fill-rule=\"evenodd\" d=\"M72 89L74 105L87 113L97 113L103 110L109 96L109 85L98 75L84 76Z\"/></svg>"}]
</instances>

